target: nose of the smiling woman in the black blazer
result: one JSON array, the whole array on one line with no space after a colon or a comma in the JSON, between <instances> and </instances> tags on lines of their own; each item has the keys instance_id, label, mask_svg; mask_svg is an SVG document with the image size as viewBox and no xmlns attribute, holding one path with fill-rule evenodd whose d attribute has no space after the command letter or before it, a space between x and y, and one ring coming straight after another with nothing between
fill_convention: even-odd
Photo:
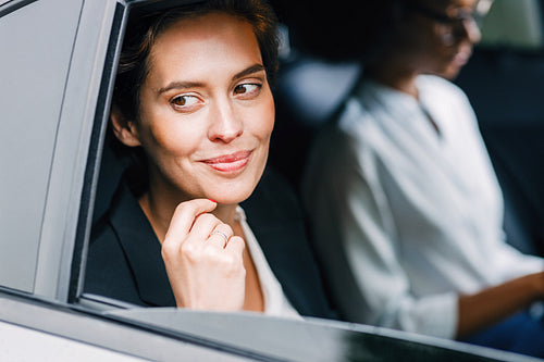
<instances>
[{"instance_id":1,"label":"nose of the smiling woman in the black blazer","mask_svg":"<svg viewBox=\"0 0 544 362\"><path fill-rule=\"evenodd\" d=\"M208 138L211 141L232 142L244 133L243 122L239 120L235 107L230 101L217 102L210 114Z\"/></svg>"}]
</instances>

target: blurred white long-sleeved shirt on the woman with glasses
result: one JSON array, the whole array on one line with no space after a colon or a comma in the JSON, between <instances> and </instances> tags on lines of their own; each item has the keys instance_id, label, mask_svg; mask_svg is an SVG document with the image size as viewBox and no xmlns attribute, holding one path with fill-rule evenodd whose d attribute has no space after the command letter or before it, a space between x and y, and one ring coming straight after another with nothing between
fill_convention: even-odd
<instances>
[{"instance_id":1,"label":"blurred white long-sleeved shirt on the woman with glasses","mask_svg":"<svg viewBox=\"0 0 544 362\"><path fill-rule=\"evenodd\" d=\"M544 263L504 240L502 194L465 93L435 76L417 86L419 102L359 86L317 140L304 201L344 316L453 338L459 294Z\"/></svg>"}]
</instances>

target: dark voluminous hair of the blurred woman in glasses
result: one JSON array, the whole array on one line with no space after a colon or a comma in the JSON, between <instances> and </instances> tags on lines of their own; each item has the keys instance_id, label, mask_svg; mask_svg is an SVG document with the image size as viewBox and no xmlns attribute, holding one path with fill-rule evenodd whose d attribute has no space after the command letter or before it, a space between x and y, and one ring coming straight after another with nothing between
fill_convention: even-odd
<instances>
[{"instance_id":1,"label":"dark voluminous hair of the blurred woman in glasses","mask_svg":"<svg viewBox=\"0 0 544 362\"><path fill-rule=\"evenodd\" d=\"M406 4L420 0L274 1L294 47L330 61L364 62L395 40Z\"/></svg>"}]
</instances>

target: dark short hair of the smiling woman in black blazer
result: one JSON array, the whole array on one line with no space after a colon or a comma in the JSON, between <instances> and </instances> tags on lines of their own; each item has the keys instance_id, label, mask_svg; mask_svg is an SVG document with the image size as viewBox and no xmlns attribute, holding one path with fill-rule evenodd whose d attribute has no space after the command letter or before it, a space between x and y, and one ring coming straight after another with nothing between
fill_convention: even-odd
<instances>
[{"instance_id":1,"label":"dark short hair of the smiling woman in black blazer","mask_svg":"<svg viewBox=\"0 0 544 362\"><path fill-rule=\"evenodd\" d=\"M256 35L267 77L271 84L277 71L277 20L265 0L205 0L128 20L123 41L113 104L127 120L139 115L140 88L149 72L149 54L159 35L182 18L223 12L249 23Z\"/></svg>"}]
</instances>

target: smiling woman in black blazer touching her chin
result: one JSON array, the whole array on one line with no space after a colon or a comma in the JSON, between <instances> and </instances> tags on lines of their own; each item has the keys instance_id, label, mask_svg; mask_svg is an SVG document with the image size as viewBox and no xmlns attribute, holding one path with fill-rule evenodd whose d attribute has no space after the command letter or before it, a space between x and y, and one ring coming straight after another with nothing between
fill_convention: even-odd
<instances>
[{"instance_id":1,"label":"smiling woman in black blazer touching her chin","mask_svg":"<svg viewBox=\"0 0 544 362\"><path fill-rule=\"evenodd\" d=\"M129 24L111 121L124 147L143 151L145 183L123 183L95 229L87 292L140 305L327 315L281 179L260 185L248 221L239 207L265 167L276 47L274 14L260 0L207 1Z\"/></svg>"}]
</instances>

